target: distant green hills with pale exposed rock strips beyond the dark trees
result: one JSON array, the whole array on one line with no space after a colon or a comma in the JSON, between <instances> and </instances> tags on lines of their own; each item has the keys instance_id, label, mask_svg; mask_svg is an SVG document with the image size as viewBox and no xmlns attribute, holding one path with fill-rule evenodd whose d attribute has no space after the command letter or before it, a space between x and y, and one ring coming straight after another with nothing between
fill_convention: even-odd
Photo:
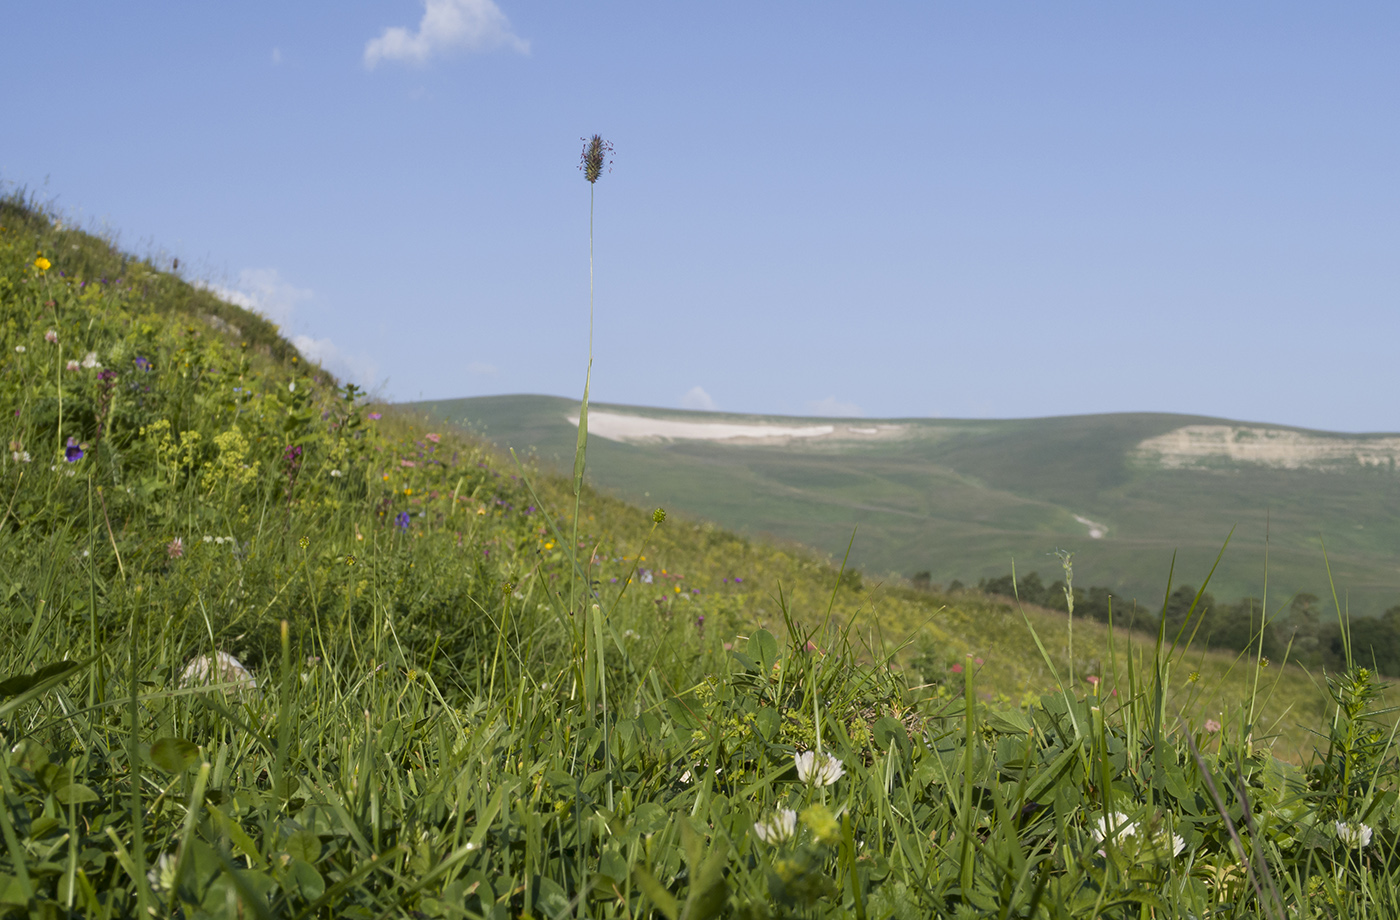
<instances>
[{"instance_id":1,"label":"distant green hills with pale exposed rock strips beyond the dark trees","mask_svg":"<svg viewBox=\"0 0 1400 920\"><path fill-rule=\"evenodd\" d=\"M571 462L577 403L483 396L409 403L503 447ZM1270 604L1329 597L1400 604L1400 435L1344 435L1203 416L794 419L594 405L592 482L750 534L844 553L869 573L935 583L1009 571L1107 585L1154 611L1172 556L1211 590ZM738 430L694 426L741 426ZM690 426L690 427L686 427ZM743 426L767 426L752 428ZM720 437L724 435L724 437Z\"/></svg>"}]
</instances>

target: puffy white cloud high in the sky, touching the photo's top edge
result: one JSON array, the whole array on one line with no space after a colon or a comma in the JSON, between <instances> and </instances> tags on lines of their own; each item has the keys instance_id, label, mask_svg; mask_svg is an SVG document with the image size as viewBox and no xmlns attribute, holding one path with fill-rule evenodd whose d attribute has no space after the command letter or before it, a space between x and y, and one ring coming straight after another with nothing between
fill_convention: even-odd
<instances>
[{"instance_id":1,"label":"puffy white cloud high in the sky, touching the photo's top edge","mask_svg":"<svg viewBox=\"0 0 1400 920\"><path fill-rule=\"evenodd\" d=\"M508 48L529 53L529 42L511 31L510 20L491 0L423 0L423 6L417 32L393 25L365 43L365 67L372 70L381 60L426 64L428 57L452 49Z\"/></svg>"}]
</instances>

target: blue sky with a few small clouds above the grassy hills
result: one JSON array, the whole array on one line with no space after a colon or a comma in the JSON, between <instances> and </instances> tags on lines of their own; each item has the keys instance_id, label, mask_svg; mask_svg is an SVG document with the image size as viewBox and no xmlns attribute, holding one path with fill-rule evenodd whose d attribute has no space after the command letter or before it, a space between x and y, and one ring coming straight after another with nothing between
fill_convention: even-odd
<instances>
[{"instance_id":1,"label":"blue sky with a few small clouds above the grassy hills","mask_svg":"<svg viewBox=\"0 0 1400 920\"><path fill-rule=\"evenodd\" d=\"M0 181L396 399L1400 431L1400 7L56 3Z\"/></svg>"}]
</instances>

